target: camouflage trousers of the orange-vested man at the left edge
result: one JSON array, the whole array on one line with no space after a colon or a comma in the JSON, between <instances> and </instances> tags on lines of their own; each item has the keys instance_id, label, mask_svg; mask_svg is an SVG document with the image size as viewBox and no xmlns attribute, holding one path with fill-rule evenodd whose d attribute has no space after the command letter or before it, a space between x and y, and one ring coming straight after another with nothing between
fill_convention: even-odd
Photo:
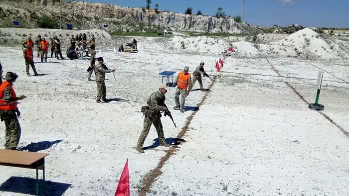
<instances>
[{"instance_id":1,"label":"camouflage trousers of the orange-vested man at the left edge","mask_svg":"<svg viewBox=\"0 0 349 196\"><path fill-rule=\"evenodd\" d=\"M5 149L16 149L20 138L20 125L14 110L0 110L5 122Z\"/></svg>"}]
</instances>

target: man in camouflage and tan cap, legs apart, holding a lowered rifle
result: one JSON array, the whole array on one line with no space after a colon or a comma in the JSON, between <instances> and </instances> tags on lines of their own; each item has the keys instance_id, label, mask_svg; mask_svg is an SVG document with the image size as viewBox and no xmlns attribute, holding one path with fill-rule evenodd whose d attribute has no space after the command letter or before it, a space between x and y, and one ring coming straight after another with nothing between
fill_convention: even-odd
<instances>
[{"instance_id":1,"label":"man in camouflage and tan cap, legs apart, holding a lowered rifle","mask_svg":"<svg viewBox=\"0 0 349 196\"><path fill-rule=\"evenodd\" d=\"M144 153L143 144L146 140L150 127L154 124L157 129L159 142L161 146L169 147L170 145L166 143L164 137L163 124L161 123L161 113L160 111L164 111L165 115L167 115L170 111L165 104L165 94L167 93L167 85L161 84L159 87L159 91L154 92L147 101L148 106L143 111L144 118L144 126L143 131L138 139L136 150L140 153ZM145 107L145 106L144 106Z\"/></svg>"}]
</instances>

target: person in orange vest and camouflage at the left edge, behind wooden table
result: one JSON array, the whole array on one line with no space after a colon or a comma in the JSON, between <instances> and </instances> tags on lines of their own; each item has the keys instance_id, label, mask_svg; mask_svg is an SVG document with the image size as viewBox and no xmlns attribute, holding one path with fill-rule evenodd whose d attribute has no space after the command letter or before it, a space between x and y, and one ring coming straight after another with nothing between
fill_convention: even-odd
<instances>
[{"instance_id":1,"label":"person in orange vest and camouflage at the left edge, behind wooden table","mask_svg":"<svg viewBox=\"0 0 349 196\"><path fill-rule=\"evenodd\" d=\"M18 118L20 112L17 108L17 100L26 98L16 97L12 86L18 76L15 73L7 72L5 80L0 85L0 117L5 122L5 149L16 150L20 138L20 125Z\"/></svg>"}]
</instances>

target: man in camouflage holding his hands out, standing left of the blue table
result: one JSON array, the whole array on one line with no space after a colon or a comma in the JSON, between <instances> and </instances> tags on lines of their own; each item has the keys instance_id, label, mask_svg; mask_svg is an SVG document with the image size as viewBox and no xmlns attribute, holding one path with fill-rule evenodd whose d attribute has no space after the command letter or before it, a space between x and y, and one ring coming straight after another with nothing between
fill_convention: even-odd
<instances>
[{"instance_id":1,"label":"man in camouflage holding his hands out, standing left of the blue table","mask_svg":"<svg viewBox=\"0 0 349 196\"><path fill-rule=\"evenodd\" d=\"M97 98L96 102L105 102L107 96L107 89L105 87L105 73L115 72L114 70L108 69L108 67L103 64L103 57L98 57L98 64L96 65L96 83L97 83ZM102 98L102 101L101 101Z\"/></svg>"}]
</instances>

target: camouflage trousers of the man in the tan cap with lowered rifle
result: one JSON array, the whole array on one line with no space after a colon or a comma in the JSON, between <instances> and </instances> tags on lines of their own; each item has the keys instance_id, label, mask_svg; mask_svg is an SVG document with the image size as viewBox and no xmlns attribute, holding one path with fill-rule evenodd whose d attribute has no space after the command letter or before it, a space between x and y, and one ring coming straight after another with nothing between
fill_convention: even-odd
<instances>
[{"instance_id":1,"label":"camouflage trousers of the man in the tan cap with lowered rifle","mask_svg":"<svg viewBox=\"0 0 349 196\"><path fill-rule=\"evenodd\" d=\"M150 127L154 124L157 129L159 142L161 144L166 144L166 140L164 137L163 124L161 123L160 116L146 116L144 118L143 131L138 139L137 148L143 148L144 141L146 140Z\"/></svg>"}]
</instances>

